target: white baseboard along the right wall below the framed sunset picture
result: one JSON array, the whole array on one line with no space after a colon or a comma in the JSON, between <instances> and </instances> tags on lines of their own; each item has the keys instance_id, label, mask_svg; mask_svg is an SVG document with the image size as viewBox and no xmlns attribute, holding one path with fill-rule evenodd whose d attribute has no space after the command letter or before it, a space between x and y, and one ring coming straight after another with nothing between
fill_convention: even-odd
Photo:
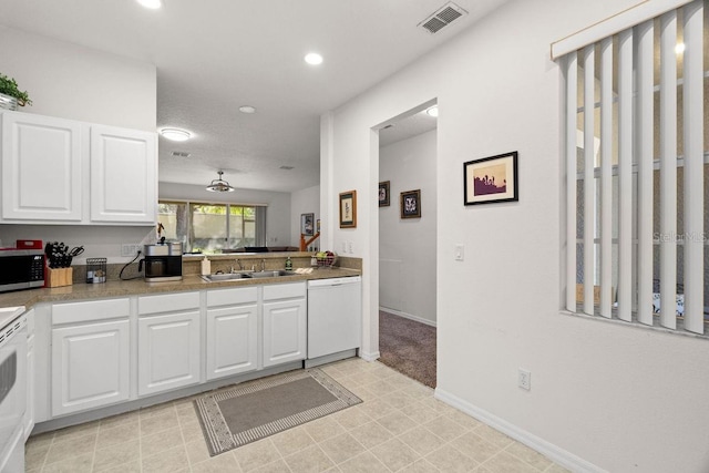
<instances>
[{"instance_id":1,"label":"white baseboard along the right wall below the framed sunset picture","mask_svg":"<svg viewBox=\"0 0 709 473\"><path fill-rule=\"evenodd\" d=\"M594 465L593 463L589 463L586 460L576 456L573 453L554 445L553 443L547 442L544 439L541 439L525 430L522 430L518 426L505 421L504 419L501 419L485 411L484 409L480 409L471 404L470 402L460 399L456 395L445 392L441 388L435 389L434 397L435 399L439 399L446 404L450 404L455 409L459 409L466 414L472 415L473 418L492 426L493 429L505 433L512 439L524 443L528 448L536 450L544 456L553 460L555 463L558 463L565 469L579 473L607 473L605 470Z\"/></svg>"}]
</instances>

